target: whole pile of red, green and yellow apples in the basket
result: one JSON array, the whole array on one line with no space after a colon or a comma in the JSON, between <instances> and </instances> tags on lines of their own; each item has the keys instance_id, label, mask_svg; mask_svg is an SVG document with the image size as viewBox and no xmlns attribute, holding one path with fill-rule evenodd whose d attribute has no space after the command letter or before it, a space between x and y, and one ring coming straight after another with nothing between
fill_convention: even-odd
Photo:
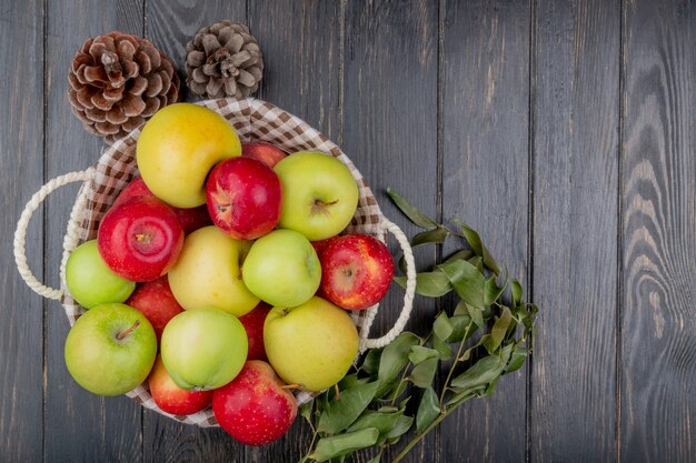
<instances>
[{"instance_id":1,"label":"whole pile of red, green and yellow apples in the basket","mask_svg":"<svg viewBox=\"0 0 696 463\"><path fill-rule=\"evenodd\" d=\"M384 298L391 255L340 234L358 187L331 155L242 145L189 103L157 112L136 152L141 177L67 263L88 309L66 340L68 370L100 395L147 382L162 411L211 406L238 441L269 443L295 421L294 389L348 372L359 338L347 310Z\"/></svg>"}]
</instances>

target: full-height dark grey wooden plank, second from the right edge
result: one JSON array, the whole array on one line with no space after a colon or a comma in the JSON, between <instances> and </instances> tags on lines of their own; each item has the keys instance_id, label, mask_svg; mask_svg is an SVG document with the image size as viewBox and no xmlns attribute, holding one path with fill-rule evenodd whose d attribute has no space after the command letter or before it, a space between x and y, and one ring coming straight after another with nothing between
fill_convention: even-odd
<instances>
[{"instance_id":1,"label":"full-height dark grey wooden plank, second from the right edge","mask_svg":"<svg viewBox=\"0 0 696 463\"><path fill-rule=\"evenodd\" d=\"M530 459L616 461L620 11L535 7Z\"/></svg>"}]
</instances>

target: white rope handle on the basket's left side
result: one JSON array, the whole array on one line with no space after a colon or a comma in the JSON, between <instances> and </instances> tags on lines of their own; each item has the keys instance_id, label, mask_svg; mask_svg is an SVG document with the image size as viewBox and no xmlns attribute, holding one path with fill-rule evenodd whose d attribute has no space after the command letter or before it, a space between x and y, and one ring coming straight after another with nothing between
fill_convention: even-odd
<instances>
[{"instance_id":1,"label":"white rope handle on the basket's left side","mask_svg":"<svg viewBox=\"0 0 696 463\"><path fill-rule=\"evenodd\" d=\"M46 200L46 198L58 190L61 187L64 187L74 182L89 182L95 177L95 169L89 168L83 171L70 172L63 175L59 175L54 179L49 180L39 191L37 191L22 211L19 221L17 222L17 230L14 230L14 263L17 264L17 270L19 271L20 276L27 285L37 294L42 295L43 298L60 300L63 296L63 289L54 289L50 288L43 283L41 283L34 274L29 269L29 264L27 263L27 229L29 228L29 221L33 213L39 209L41 203ZM81 213L83 209L83 203L87 200L87 189L83 189L81 194L72 208L70 213L70 220L68 222L68 231L63 239L63 255L60 264L60 280L64 281L64 272L66 272L66 262L68 261L68 255L70 251L74 248L77 242L77 217Z\"/></svg>"}]
</instances>

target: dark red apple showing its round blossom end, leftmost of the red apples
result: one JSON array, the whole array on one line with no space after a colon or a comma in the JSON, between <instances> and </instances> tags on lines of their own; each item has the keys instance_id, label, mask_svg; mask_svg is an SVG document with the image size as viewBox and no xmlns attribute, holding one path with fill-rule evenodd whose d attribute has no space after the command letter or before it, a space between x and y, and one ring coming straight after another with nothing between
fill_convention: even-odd
<instances>
[{"instance_id":1,"label":"dark red apple showing its round blossom end, leftmost of the red apples","mask_svg":"<svg viewBox=\"0 0 696 463\"><path fill-rule=\"evenodd\" d=\"M155 197L136 197L105 214L97 245L113 273L130 281L151 281L177 262L183 230L166 203Z\"/></svg>"}]
</instances>

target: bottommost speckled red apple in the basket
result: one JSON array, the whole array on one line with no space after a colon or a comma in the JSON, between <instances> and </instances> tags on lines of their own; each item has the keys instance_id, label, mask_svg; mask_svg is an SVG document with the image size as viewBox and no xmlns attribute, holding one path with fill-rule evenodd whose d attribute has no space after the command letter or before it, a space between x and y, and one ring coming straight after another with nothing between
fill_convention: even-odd
<instances>
[{"instance_id":1,"label":"bottommost speckled red apple in the basket","mask_svg":"<svg viewBox=\"0 0 696 463\"><path fill-rule=\"evenodd\" d=\"M248 361L235 380L212 393L212 413L242 444L269 444L297 417L297 401L284 385L268 363Z\"/></svg>"}]
</instances>

